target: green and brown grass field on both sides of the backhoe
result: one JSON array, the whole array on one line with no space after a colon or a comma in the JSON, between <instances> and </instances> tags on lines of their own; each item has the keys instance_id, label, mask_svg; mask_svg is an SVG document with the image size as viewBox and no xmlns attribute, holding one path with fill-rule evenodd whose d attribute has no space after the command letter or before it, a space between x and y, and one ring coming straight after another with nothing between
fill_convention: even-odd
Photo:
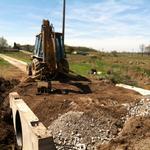
<instances>
[{"instance_id":1,"label":"green and brown grass field on both sides of the backhoe","mask_svg":"<svg viewBox=\"0 0 150 150\"><path fill-rule=\"evenodd\" d=\"M23 52L5 52L16 59L31 62L31 56ZM89 52L89 55L68 54L70 70L82 76L109 79L114 83L124 83L150 89L150 56L125 53ZM0 61L1 69L9 65ZM89 74L91 69L99 75Z\"/></svg>"}]
</instances>

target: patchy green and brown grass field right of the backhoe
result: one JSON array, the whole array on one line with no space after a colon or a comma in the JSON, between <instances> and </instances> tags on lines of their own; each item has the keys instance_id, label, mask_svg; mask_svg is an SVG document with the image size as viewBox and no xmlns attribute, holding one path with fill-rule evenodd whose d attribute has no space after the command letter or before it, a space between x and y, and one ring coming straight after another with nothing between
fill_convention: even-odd
<instances>
[{"instance_id":1,"label":"patchy green and brown grass field right of the backhoe","mask_svg":"<svg viewBox=\"0 0 150 150\"><path fill-rule=\"evenodd\" d=\"M75 56L69 55L70 68L74 72L89 76L89 71L93 68L100 71L97 75L99 79L109 79L113 83L124 83L138 86L138 81L130 75L130 72L145 74L150 77L150 58L141 55L119 54L113 56L107 53L95 53L95 56Z\"/></svg>"}]
</instances>

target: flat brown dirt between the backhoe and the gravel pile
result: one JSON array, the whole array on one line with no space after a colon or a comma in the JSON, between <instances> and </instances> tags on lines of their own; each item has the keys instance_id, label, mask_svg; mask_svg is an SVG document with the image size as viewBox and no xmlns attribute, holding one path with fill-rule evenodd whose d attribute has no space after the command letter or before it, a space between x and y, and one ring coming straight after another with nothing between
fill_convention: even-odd
<instances>
[{"instance_id":1,"label":"flat brown dirt between the backhoe and the gravel pile","mask_svg":"<svg viewBox=\"0 0 150 150\"><path fill-rule=\"evenodd\" d=\"M57 94L56 91L50 95L36 95L35 82L22 83L14 90L21 95L21 98L26 101L46 126L49 126L60 114L68 111L95 112L96 109L106 109L118 117L119 109L114 108L114 106L136 102L141 98L136 92L115 87L105 81L72 82L70 84L53 82L52 86L57 91L65 90L69 94Z\"/></svg>"}]
</instances>

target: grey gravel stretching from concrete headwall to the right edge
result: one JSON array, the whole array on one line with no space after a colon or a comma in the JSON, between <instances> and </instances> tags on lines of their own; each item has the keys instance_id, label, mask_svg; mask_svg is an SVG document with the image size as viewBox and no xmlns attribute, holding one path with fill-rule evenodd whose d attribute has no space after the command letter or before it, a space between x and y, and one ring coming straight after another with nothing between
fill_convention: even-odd
<instances>
[{"instance_id":1,"label":"grey gravel stretching from concrete headwall to the right edge","mask_svg":"<svg viewBox=\"0 0 150 150\"><path fill-rule=\"evenodd\" d=\"M53 133L58 150L94 150L116 138L131 117L150 116L150 99L122 104L127 114L118 120L93 118L86 112L69 111L58 117L48 129ZM104 112L103 112L104 113Z\"/></svg>"}]
</instances>

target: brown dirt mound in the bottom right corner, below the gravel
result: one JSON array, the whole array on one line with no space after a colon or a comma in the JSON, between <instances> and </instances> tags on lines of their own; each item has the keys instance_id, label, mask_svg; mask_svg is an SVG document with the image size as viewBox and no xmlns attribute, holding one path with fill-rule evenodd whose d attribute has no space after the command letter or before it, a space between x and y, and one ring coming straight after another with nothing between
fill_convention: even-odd
<instances>
[{"instance_id":1,"label":"brown dirt mound in the bottom right corner, below the gravel","mask_svg":"<svg viewBox=\"0 0 150 150\"><path fill-rule=\"evenodd\" d=\"M109 144L99 146L99 150L149 150L150 117L130 118L120 135Z\"/></svg>"}]
</instances>

